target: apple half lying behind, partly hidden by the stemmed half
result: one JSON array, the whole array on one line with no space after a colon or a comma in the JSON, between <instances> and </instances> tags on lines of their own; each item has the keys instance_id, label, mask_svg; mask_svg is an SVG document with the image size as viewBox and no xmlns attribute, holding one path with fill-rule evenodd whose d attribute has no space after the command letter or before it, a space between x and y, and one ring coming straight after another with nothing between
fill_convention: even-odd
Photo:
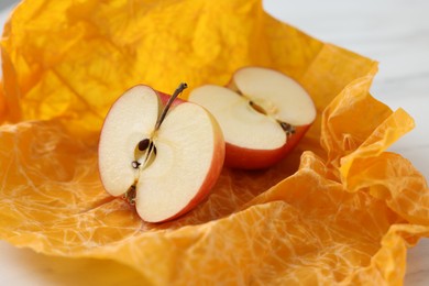
<instances>
[{"instance_id":1,"label":"apple half lying behind, partly hidden by the stemmed half","mask_svg":"<svg viewBox=\"0 0 429 286\"><path fill-rule=\"evenodd\" d=\"M198 87L189 101L218 120L227 144L226 165L244 169L280 161L316 118L312 99L298 82L263 67L237 70L228 87Z\"/></svg>"}]
</instances>

